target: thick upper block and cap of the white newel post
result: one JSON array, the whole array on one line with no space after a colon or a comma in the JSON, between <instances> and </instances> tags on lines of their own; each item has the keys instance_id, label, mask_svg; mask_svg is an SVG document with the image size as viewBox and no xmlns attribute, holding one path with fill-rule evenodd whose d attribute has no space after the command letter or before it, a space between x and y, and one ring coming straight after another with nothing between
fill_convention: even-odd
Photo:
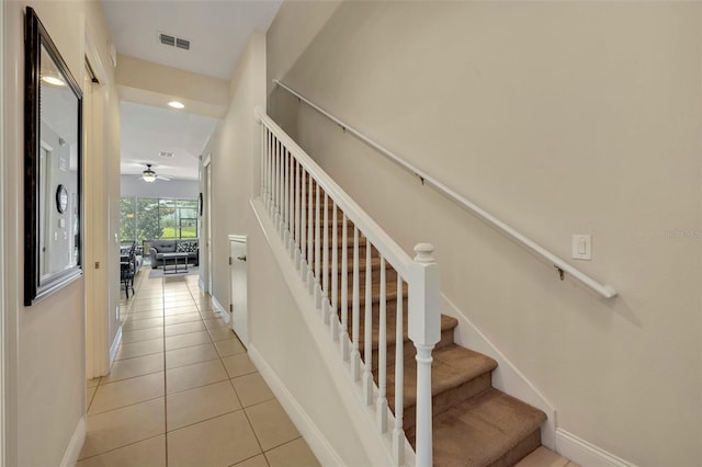
<instances>
[{"instance_id":1,"label":"thick upper block and cap of the white newel post","mask_svg":"<svg viewBox=\"0 0 702 467\"><path fill-rule=\"evenodd\" d=\"M434 247L419 243L410 266L409 338L419 345L434 345L441 339L441 284Z\"/></svg>"}]
</instances>

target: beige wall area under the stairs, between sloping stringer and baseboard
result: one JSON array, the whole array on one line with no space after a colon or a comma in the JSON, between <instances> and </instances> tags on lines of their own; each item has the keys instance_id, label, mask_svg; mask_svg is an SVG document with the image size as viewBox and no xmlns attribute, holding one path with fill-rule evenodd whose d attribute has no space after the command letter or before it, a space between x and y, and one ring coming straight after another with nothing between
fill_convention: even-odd
<instances>
[{"instance_id":1,"label":"beige wall area under the stairs, between sloping stringer and baseboard","mask_svg":"<svg viewBox=\"0 0 702 467\"><path fill-rule=\"evenodd\" d=\"M268 231L268 236L280 241L274 230ZM313 309L297 307L259 225L252 228L247 255L251 259L248 262L251 345L273 368L342 465L372 466L360 435L350 428L348 411L356 406L351 403L350 409L344 405L355 401L339 396L302 316L318 311L314 305ZM316 446L310 440L307 442L310 447Z\"/></svg>"}]
</instances>

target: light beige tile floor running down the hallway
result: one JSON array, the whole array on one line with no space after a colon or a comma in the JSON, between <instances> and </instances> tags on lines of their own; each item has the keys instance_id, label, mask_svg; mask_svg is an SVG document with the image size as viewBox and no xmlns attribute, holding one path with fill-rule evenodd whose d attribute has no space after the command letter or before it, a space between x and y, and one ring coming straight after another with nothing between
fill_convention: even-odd
<instances>
[{"instance_id":1,"label":"light beige tile floor running down the hallway","mask_svg":"<svg viewBox=\"0 0 702 467\"><path fill-rule=\"evenodd\" d=\"M318 466L196 275L137 277L79 467Z\"/></svg>"}]
</instances>

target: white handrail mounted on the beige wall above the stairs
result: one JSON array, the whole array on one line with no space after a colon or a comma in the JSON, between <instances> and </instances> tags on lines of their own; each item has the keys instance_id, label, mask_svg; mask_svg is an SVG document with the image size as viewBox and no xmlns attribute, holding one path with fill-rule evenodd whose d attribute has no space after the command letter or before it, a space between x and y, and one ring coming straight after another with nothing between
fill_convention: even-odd
<instances>
[{"instance_id":1,"label":"white handrail mounted on the beige wall above the stairs","mask_svg":"<svg viewBox=\"0 0 702 467\"><path fill-rule=\"evenodd\" d=\"M351 133L353 136L355 136L356 138L361 139L366 145L369 145L372 148L376 149L378 152L381 152L383 156L385 156L386 158L390 159L393 162L395 162L398 166L400 166L403 169L405 169L408 172L419 176L419 179L421 179L423 184L427 184L427 185L433 187L439 193L443 194L449 200L451 200L454 203L458 204L464 209L466 209L469 213L473 213L474 215L478 216L479 218L482 218L483 220L485 220L486 223L488 223L492 227L495 227L498 230L500 230L506 236L508 236L508 237L512 238L513 240L516 240L518 243L521 243L523 247L525 247L526 249L529 249L530 251L535 253L537 257L541 257L544 260L546 260L548 263L552 263L554 265L554 267L561 274L561 278L562 280L563 280L563 274L567 273L570 276L573 276L574 278L580 281L582 284L585 284L588 287L590 287L591 289L593 289L595 292L597 292L598 294L600 294L604 298L612 298L612 297L616 296L616 291L611 285L600 284L599 282L593 280L592 277L590 277L589 275L587 275L582 271L578 270L577 267L575 267L571 264L567 263L566 261L564 261L563 259L561 259L556 254L554 254L551 251L546 250L545 248L541 247L535 241L531 240L530 238L528 238L528 237L523 236L522 234L520 234L519 231L514 230L512 227L508 226L507 224L505 224L503 221L501 221L497 217L492 216L491 214L489 214L488 212L486 212L482 207L477 206L475 203L466 200L464 196L462 196L458 193L456 193L455 191L451 190L449 186L444 185L443 183L441 183L440 181L438 181L433 176L427 174L426 172L423 172L420 169L416 168L415 166L410 164L409 162L407 162L406 160L404 160L403 158L400 158L399 156L397 156L396 153L394 153L389 149L386 149L385 147L378 145L377 143L375 143L371 138L369 138L367 136L363 135L358 129L353 128L352 126L349 126L344 122L342 122L339 118L337 118L333 115L331 115L329 112L327 112L324 109L319 107L318 105L316 105L312 101L305 99L298 92L296 92L295 90L291 89L286 84L282 83L280 80L274 79L273 82L275 84L280 86L281 88L283 88L284 90L286 90L287 92L290 92L291 94L295 95L301 101L305 102L307 105L309 105L310 107L313 107L314 110L316 110L320 114L325 115L327 118L329 118L332 122L335 122L337 125L343 127L346 132Z\"/></svg>"}]
</instances>

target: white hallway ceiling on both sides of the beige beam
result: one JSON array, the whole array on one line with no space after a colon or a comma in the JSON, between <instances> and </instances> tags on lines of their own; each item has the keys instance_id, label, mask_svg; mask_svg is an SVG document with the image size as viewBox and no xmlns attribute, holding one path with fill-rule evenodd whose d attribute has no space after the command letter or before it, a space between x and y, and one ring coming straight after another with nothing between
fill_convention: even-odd
<instances>
[{"instance_id":1,"label":"white hallway ceiling on both sides of the beige beam","mask_svg":"<svg viewBox=\"0 0 702 467\"><path fill-rule=\"evenodd\" d=\"M253 31L265 32L281 0L102 0L117 53L229 81ZM162 45L165 33L190 50ZM117 62L117 67L120 64ZM218 119L122 102L123 174L152 163L159 175L197 180L200 151ZM159 151L173 152L172 158ZM159 183L159 182L157 182Z\"/></svg>"}]
</instances>

